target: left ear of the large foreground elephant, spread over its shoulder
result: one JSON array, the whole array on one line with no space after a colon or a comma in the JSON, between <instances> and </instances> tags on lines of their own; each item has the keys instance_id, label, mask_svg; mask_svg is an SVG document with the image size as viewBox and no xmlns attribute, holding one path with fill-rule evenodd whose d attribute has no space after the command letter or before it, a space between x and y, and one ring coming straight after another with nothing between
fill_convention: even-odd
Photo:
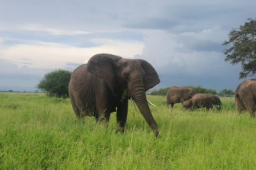
<instances>
[{"instance_id":1,"label":"left ear of the large foreground elephant, spread over its shoulder","mask_svg":"<svg viewBox=\"0 0 256 170\"><path fill-rule=\"evenodd\" d=\"M122 57L116 55L97 54L92 56L87 63L87 71L102 78L107 83L114 96L118 93L114 65L121 59Z\"/></svg>"}]
</instances>

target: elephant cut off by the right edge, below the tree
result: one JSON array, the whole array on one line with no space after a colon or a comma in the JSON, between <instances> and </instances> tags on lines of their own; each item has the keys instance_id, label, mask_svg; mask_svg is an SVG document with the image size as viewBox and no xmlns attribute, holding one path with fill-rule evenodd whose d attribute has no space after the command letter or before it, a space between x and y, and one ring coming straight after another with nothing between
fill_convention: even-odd
<instances>
[{"instance_id":1,"label":"elephant cut off by the right edge, below the tree","mask_svg":"<svg viewBox=\"0 0 256 170\"><path fill-rule=\"evenodd\" d=\"M235 91L235 103L236 110L239 114L247 109L251 117L255 117L256 79L245 80L237 86Z\"/></svg>"}]
</instances>

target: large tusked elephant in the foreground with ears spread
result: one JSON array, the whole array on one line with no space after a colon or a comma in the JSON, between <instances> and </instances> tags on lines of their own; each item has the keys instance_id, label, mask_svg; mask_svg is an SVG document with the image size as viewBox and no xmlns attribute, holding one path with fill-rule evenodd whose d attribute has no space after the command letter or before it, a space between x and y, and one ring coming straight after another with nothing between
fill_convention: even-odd
<instances>
[{"instance_id":1,"label":"large tusked elephant in the foreground with ears spread","mask_svg":"<svg viewBox=\"0 0 256 170\"><path fill-rule=\"evenodd\" d=\"M146 91L160 82L154 67L145 60L96 54L71 74L69 96L78 119L94 116L108 124L116 112L117 131L124 132L128 99L137 104L146 122L158 137L158 125L149 109Z\"/></svg>"}]
</instances>

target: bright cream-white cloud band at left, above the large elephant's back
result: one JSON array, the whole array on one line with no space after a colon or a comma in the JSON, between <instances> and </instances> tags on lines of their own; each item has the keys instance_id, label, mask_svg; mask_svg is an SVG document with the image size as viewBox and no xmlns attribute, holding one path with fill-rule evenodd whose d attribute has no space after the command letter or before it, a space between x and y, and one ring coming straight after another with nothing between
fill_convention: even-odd
<instances>
[{"instance_id":1,"label":"bright cream-white cloud band at left, above the large elephant's back","mask_svg":"<svg viewBox=\"0 0 256 170\"><path fill-rule=\"evenodd\" d=\"M122 41L112 39L93 39L98 46L91 48L73 47L58 43L34 41L33 44L3 46L1 58L12 60L19 67L27 65L35 69L54 69L66 66L66 63L87 63L98 53L111 53L123 57L141 54L142 41ZM23 58L30 60L24 61Z\"/></svg>"}]
</instances>

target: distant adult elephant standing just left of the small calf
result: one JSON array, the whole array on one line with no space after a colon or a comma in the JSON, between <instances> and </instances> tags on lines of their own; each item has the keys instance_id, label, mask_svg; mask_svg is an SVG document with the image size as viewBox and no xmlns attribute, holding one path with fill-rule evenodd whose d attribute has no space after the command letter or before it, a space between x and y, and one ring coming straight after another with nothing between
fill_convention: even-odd
<instances>
[{"instance_id":1,"label":"distant adult elephant standing just left of the small calf","mask_svg":"<svg viewBox=\"0 0 256 170\"><path fill-rule=\"evenodd\" d=\"M187 87L177 87L173 86L167 91L166 94L166 105L169 107L171 104L171 107L173 107L174 103L182 103L185 100L191 99L196 94L196 91L194 89L190 89Z\"/></svg>"}]
</instances>

